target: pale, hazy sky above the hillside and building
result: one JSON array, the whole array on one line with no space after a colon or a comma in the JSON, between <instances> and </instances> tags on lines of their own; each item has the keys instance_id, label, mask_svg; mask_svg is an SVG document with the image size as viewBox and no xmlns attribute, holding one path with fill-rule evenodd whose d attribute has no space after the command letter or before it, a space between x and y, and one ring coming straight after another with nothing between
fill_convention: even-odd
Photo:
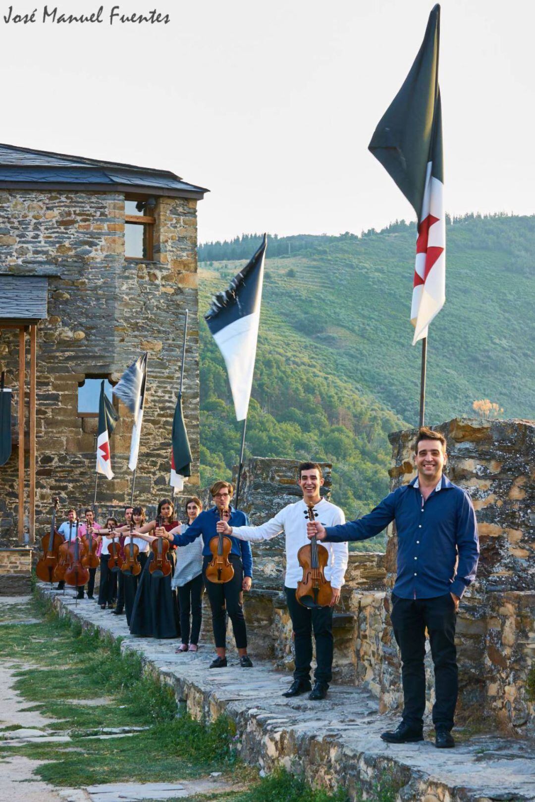
<instances>
[{"instance_id":1,"label":"pale, hazy sky above the hillside and building","mask_svg":"<svg viewBox=\"0 0 535 802\"><path fill-rule=\"evenodd\" d=\"M34 5L37 2L38 5ZM360 233L415 215L367 144L407 75L424 0L124 0L170 22L42 23L0 0L0 142L164 168L209 188L199 241ZM59 0L58 13L99 2ZM48 2L49 10L55 2ZM535 213L531 0L444 0L445 205Z\"/></svg>"}]
</instances>

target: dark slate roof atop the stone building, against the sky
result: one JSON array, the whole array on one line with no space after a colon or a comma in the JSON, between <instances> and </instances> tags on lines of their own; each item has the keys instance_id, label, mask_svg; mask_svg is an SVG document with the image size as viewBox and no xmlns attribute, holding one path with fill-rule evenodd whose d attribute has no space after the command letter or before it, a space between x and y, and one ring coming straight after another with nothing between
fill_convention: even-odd
<instances>
[{"instance_id":1,"label":"dark slate roof atop the stone building, against the sky","mask_svg":"<svg viewBox=\"0 0 535 802\"><path fill-rule=\"evenodd\" d=\"M0 188L73 189L73 185L199 199L209 192L168 170L0 144Z\"/></svg>"}]
</instances>

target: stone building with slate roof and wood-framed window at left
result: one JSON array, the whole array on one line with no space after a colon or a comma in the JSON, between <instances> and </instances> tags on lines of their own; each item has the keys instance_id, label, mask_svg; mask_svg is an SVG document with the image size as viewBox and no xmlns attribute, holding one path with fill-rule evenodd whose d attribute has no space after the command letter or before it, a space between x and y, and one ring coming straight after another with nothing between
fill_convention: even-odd
<instances>
[{"instance_id":1,"label":"stone building with slate roof and wood-framed window at left","mask_svg":"<svg viewBox=\"0 0 535 802\"><path fill-rule=\"evenodd\" d=\"M185 310L187 488L198 489L197 201L206 191L165 170L0 145L0 369L13 396L0 546L43 534L55 495L63 512L92 504L100 380L112 385L144 351L136 499L171 491ZM129 501L132 483L132 415L114 403L115 477L99 477L103 510Z\"/></svg>"}]
</instances>

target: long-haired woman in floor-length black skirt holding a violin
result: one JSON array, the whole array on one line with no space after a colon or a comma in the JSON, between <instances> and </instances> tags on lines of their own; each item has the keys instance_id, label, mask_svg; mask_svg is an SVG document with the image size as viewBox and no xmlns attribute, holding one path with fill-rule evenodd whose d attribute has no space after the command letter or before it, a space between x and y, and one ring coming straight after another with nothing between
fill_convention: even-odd
<instances>
[{"instance_id":1,"label":"long-haired woman in floor-length black skirt holding a violin","mask_svg":"<svg viewBox=\"0 0 535 802\"><path fill-rule=\"evenodd\" d=\"M162 526L169 532L178 526L179 521L174 520L174 506L169 499L162 499L158 504L156 520L161 516ZM152 534L156 529L156 520L141 526L136 531L140 534ZM169 549L168 560L175 567L175 551ZM172 573L167 577L160 572L150 573L149 565L154 559L150 553L148 561L140 576L136 597L132 606L130 618L130 632L132 635L141 635L144 638L176 638L180 634L178 610L175 592L171 587Z\"/></svg>"}]
</instances>

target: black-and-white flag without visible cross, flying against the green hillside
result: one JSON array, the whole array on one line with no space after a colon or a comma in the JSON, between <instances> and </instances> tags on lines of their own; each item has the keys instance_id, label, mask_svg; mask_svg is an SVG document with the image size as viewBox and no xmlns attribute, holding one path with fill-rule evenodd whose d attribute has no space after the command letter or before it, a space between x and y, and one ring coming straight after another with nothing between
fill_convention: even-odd
<instances>
[{"instance_id":1,"label":"black-and-white flag without visible cross, flying against the green hillside","mask_svg":"<svg viewBox=\"0 0 535 802\"><path fill-rule=\"evenodd\" d=\"M228 290L217 293L205 314L209 330L225 359L237 420L247 417L253 386L266 247L267 235L264 234L251 261L233 278Z\"/></svg>"}]
</instances>

